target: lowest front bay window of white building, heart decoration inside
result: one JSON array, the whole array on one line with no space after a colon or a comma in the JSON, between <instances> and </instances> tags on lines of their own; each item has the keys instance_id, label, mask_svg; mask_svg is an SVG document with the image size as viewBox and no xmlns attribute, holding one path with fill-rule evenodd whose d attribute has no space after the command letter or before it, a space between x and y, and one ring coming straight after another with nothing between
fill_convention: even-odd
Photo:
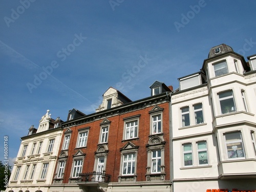
<instances>
[{"instance_id":1,"label":"lowest front bay window of white building, heart decoration inside","mask_svg":"<svg viewBox=\"0 0 256 192\"><path fill-rule=\"evenodd\" d=\"M226 133L224 136L228 159L245 157L241 132Z\"/></svg>"}]
</instances>

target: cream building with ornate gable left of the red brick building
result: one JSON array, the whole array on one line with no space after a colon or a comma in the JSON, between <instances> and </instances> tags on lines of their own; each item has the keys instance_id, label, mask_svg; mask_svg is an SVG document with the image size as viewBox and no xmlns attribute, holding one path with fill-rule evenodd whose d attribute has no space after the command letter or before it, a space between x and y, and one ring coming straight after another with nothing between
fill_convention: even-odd
<instances>
[{"instance_id":1,"label":"cream building with ornate gable left of the red brick building","mask_svg":"<svg viewBox=\"0 0 256 192\"><path fill-rule=\"evenodd\" d=\"M49 110L39 121L38 129L32 125L14 162L6 191L48 191L54 176L54 168L62 135L61 120L51 118Z\"/></svg>"}]
</instances>

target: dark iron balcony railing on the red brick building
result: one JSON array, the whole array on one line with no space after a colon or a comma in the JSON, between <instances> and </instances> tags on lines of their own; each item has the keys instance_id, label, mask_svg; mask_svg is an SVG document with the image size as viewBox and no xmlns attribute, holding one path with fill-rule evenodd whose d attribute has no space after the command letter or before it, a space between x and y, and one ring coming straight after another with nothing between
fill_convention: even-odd
<instances>
[{"instance_id":1,"label":"dark iron balcony railing on the red brick building","mask_svg":"<svg viewBox=\"0 0 256 192\"><path fill-rule=\"evenodd\" d=\"M93 172L93 173L81 173L77 178L77 182L110 182L111 175Z\"/></svg>"}]
</instances>

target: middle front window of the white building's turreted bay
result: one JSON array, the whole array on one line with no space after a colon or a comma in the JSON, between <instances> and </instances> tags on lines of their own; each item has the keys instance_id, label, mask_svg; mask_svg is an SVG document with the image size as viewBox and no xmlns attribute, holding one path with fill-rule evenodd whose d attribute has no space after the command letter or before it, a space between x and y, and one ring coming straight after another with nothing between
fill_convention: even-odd
<instances>
[{"instance_id":1,"label":"middle front window of the white building's turreted bay","mask_svg":"<svg viewBox=\"0 0 256 192\"><path fill-rule=\"evenodd\" d=\"M221 114L236 112L234 105L233 92L227 91L219 94L219 101L221 106Z\"/></svg>"}]
</instances>

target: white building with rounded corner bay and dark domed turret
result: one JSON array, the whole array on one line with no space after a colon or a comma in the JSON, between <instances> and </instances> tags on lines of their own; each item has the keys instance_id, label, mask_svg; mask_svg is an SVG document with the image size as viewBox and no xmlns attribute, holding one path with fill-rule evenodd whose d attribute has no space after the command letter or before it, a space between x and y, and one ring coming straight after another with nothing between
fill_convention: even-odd
<instances>
[{"instance_id":1,"label":"white building with rounded corner bay and dark domed turret","mask_svg":"<svg viewBox=\"0 0 256 192\"><path fill-rule=\"evenodd\" d=\"M173 191L256 190L256 55L222 44L172 93ZM228 190L227 190L228 191Z\"/></svg>"}]
</instances>

